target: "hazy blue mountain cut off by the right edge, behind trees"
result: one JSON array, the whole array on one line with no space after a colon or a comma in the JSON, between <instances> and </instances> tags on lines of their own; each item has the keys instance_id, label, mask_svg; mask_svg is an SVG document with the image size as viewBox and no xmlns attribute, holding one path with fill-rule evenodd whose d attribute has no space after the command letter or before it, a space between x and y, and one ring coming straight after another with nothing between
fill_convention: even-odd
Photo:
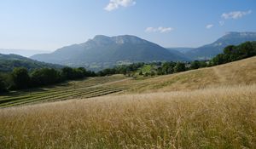
<instances>
[{"instance_id":1,"label":"hazy blue mountain cut off by the right edge, behind trees","mask_svg":"<svg viewBox=\"0 0 256 149\"><path fill-rule=\"evenodd\" d=\"M191 49L185 55L194 60L207 60L222 53L228 45L238 45L247 41L256 41L256 32L227 32L214 43Z\"/></svg>"}]
</instances>

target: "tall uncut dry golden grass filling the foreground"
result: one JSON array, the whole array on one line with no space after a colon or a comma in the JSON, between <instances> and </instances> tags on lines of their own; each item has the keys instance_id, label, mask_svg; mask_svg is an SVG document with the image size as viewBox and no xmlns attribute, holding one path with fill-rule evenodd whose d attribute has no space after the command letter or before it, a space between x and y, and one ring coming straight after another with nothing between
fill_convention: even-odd
<instances>
[{"instance_id":1,"label":"tall uncut dry golden grass filling the foreground","mask_svg":"<svg viewBox=\"0 0 256 149\"><path fill-rule=\"evenodd\" d=\"M256 148L256 85L0 109L0 148Z\"/></svg>"}]
</instances>

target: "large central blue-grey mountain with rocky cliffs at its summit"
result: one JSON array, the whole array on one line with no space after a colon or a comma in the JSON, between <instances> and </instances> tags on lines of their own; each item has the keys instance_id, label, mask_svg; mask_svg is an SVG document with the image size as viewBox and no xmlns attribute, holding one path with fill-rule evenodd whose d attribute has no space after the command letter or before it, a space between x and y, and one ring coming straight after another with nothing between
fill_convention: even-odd
<instances>
[{"instance_id":1,"label":"large central blue-grey mountain with rocky cliffs at its summit","mask_svg":"<svg viewBox=\"0 0 256 149\"><path fill-rule=\"evenodd\" d=\"M169 52L155 43L131 35L117 37L97 35L85 43L63 47L51 54L35 54L31 58L67 66L87 66L90 69L126 62L188 60L183 55Z\"/></svg>"}]
</instances>

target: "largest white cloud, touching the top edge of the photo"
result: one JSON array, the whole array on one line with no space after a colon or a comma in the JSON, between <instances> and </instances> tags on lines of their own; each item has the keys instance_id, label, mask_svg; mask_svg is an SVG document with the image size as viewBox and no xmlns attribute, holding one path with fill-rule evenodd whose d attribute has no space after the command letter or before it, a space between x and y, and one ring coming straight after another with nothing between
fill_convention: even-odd
<instances>
[{"instance_id":1,"label":"largest white cloud, touching the top edge of the photo","mask_svg":"<svg viewBox=\"0 0 256 149\"><path fill-rule=\"evenodd\" d=\"M119 9L119 7L128 7L135 4L136 2L134 0L110 0L104 9L107 11L112 11L114 9Z\"/></svg>"}]
</instances>

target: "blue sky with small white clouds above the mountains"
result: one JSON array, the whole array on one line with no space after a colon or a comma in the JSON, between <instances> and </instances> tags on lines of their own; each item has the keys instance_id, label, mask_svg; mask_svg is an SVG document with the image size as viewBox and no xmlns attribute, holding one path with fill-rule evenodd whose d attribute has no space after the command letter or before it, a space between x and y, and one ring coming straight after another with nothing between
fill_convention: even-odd
<instances>
[{"instance_id":1,"label":"blue sky with small white clouds above the mountains","mask_svg":"<svg viewBox=\"0 0 256 149\"><path fill-rule=\"evenodd\" d=\"M95 35L198 47L256 32L255 0L2 0L0 48L55 50Z\"/></svg>"}]
</instances>

